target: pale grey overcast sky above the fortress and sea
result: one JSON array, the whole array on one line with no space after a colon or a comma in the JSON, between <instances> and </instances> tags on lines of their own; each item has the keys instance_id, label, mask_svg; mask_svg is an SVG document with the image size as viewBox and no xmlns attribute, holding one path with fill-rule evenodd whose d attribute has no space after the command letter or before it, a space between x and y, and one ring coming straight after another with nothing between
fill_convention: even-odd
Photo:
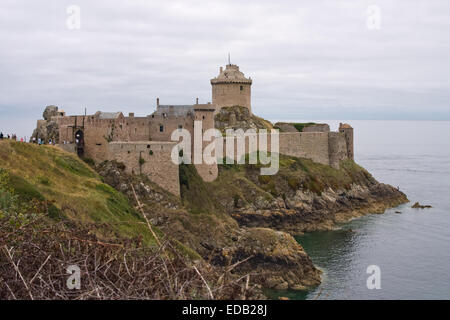
<instances>
[{"instance_id":1,"label":"pale grey overcast sky above the fortress and sea","mask_svg":"<svg viewBox=\"0 0 450 320\"><path fill-rule=\"evenodd\" d=\"M210 101L228 52L268 119L449 120L449 17L448 0L1 0L0 131L30 135L49 104Z\"/></svg>"}]
</instances>

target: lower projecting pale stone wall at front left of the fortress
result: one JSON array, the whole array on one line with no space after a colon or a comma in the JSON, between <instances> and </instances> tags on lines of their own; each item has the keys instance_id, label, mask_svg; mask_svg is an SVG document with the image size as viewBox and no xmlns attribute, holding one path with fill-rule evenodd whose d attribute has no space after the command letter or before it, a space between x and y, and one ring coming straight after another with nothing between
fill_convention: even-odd
<instances>
[{"instance_id":1,"label":"lower projecting pale stone wall at front left of the fortress","mask_svg":"<svg viewBox=\"0 0 450 320\"><path fill-rule=\"evenodd\" d=\"M154 141L110 142L106 159L123 163L127 173L146 175L160 187L179 196L179 167L171 158L175 145L175 142Z\"/></svg>"}]
</instances>

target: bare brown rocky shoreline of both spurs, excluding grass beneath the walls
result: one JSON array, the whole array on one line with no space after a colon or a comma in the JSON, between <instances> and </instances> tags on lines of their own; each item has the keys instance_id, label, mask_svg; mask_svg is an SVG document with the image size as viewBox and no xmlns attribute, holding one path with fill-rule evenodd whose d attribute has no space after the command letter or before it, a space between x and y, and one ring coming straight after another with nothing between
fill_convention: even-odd
<instances>
[{"instance_id":1,"label":"bare brown rocky shoreline of both spurs, excluding grass beneath the walls","mask_svg":"<svg viewBox=\"0 0 450 320\"><path fill-rule=\"evenodd\" d=\"M244 201L233 193L221 192L218 185L227 188L224 172L216 185L209 185L192 170L183 178L190 189L184 189L179 199L145 177L127 175L120 164L103 163L97 171L106 183L134 202L132 183L152 224L211 265L232 268L261 288L280 290L305 290L321 282L321 271L293 235L333 229L337 223L383 213L408 201L405 194L371 176L359 183L354 179L348 189L333 191L330 187L320 193L298 189L278 197L261 196L253 186L245 190L253 194L252 200ZM200 207L192 207L195 196Z\"/></svg>"}]
</instances>

